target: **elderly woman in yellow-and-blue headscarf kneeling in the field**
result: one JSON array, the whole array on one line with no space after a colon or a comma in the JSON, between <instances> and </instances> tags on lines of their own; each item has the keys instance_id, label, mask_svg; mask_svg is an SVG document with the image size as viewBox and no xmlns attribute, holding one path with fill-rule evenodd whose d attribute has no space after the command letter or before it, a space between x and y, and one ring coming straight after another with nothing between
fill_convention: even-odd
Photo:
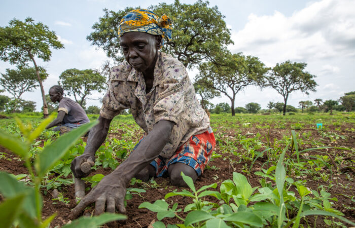
<instances>
[{"instance_id":1,"label":"elderly woman in yellow-and-blue headscarf kneeling in the field","mask_svg":"<svg viewBox=\"0 0 355 228\"><path fill-rule=\"evenodd\" d=\"M215 136L200 106L184 65L159 52L163 39L171 38L170 18L146 9L130 11L119 26L125 58L112 69L103 98L99 123L89 133L83 155L72 162L75 177L84 177L80 165L95 161L95 151L107 137L112 119L130 108L135 122L145 131L130 156L72 211L77 217L96 202L95 214L105 210L125 212L126 185L132 177L148 180L169 176L174 185L186 186L181 172L194 181L203 172L215 147Z\"/></svg>"}]
</instances>

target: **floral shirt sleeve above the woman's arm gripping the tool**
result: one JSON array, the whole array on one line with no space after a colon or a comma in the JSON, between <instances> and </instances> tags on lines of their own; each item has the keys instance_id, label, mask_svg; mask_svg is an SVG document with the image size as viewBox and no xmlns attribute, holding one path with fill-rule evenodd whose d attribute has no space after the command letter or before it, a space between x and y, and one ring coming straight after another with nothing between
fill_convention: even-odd
<instances>
[{"instance_id":1,"label":"floral shirt sleeve above the woman's arm gripping the tool","mask_svg":"<svg viewBox=\"0 0 355 228\"><path fill-rule=\"evenodd\" d=\"M111 72L111 74L112 73L113 72ZM127 100L123 99L127 97L123 94L128 90L126 87L125 81L113 80L111 77L109 89L102 99L102 107L100 109L101 117L111 120L117 116L121 110L130 107L130 105L127 104Z\"/></svg>"}]
</instances>

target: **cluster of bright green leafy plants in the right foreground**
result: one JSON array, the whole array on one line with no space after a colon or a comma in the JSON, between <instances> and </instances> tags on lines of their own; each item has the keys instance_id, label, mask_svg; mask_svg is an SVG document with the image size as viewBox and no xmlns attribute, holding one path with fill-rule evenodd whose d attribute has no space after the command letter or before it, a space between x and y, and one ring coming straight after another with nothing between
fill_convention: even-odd
<instances>
[{"instance_id":1,"label":"cluster of bright green leafy plants in the right foreground","mask_svg":"<svg viewBox=\"0 0 355 228\"><path fill-rule=\"evenodd\" d=\"M170 208L165 200L157 200L154 204L144 202L139 208L157 212L159 221L154 223L154 227L165 227L160 221L165 217L182 220L183 224L176 224L179 227L299 227L301 219L309 215L335 217L354 225L355 223L342 217L341 212L332 208L330 200L337 201L336 198L330 198L330 194L325 191L320 194L310 191L302 181L294 182L286 176L283 160L288 148L289 145L282 150L275 166L268 170L263 169L264 173L261 173L275 185L266 184L261 188L253 188L244 175L233 172L233 180L223 181L220 192L207 190L210 187L216 188L216 183L196 191L192 179L182 173L191 192L183 189L182 192L168 193L165 200L173 196L191 197L193 203L187 205L183 211L188 212L186 216L181 215L177 203ZM291 186L296 187L299 197L290 191ZM206 201L205 196L215 197L220 202L216 204ZM178 212L180 213L177 214Z\"/></svg>"}]
</instances>

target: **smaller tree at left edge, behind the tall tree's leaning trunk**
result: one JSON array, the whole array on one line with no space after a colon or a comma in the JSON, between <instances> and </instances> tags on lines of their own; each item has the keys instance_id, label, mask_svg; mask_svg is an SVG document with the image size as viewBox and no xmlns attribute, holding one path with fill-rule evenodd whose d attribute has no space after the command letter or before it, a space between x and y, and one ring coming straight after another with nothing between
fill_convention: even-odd
<instances>
[{"instance_id":1,"label":"smaller tree at left edge, behind the tall tree's leaning trunk","mask_svg":"<svg viewBox=\"0 0 355 228\"><path fill-rule=\"evenodd\" d=\"M32 92L37 88L37 73L33 67L22 67L21 69L6 69L6 73L2 73L0 82L4 89L19 99L24 92ZM44 81L48 74L42 67L40 68L40 77Z\"/></svg>"}]
</instances>

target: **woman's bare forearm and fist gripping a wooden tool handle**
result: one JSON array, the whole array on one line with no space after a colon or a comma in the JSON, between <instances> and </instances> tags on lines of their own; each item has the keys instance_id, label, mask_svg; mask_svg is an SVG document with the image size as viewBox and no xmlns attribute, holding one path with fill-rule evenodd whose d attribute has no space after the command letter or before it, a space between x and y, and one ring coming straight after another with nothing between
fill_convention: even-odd
<instances>
[{"instance_id":1,"label":"woman's bare forearm and fist gripping a wooden tool handle","mask_svg":"<svg viewBox=\"0 0 355 228\"><path fill-rule=\"evenodd\" d=\"M99 116L98 124L90 130L84 153L75 158L70 166L70 169L76 178L82 178L89 174L81 171L81 164L89 162L91 166L94 166L96 150L106 139L111 121L112 120Z\"/></svg>"}]
</instances>

